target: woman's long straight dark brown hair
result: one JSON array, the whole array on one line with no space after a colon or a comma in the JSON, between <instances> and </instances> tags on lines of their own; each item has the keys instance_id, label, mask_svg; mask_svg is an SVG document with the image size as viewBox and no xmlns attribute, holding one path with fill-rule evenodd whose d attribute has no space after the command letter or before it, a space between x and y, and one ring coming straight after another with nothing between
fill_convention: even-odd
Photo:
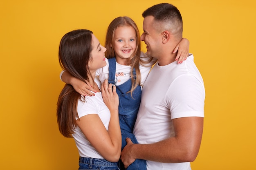
<instances>
[{"instance_id":1,"label":"woman's long straight dark brown hair","mask_svg":"<svg viewBox=\"0 0 256 170\"><path fill-rule=\"evenodd\" d=\"M88 69L92 51L92 31L79 29L66 33L61 39L58 60L63 70L77 79L89 81L91 73ZM81 95L74 88L65 84L57 102L57 122L61 134L72 137L76 127L77 103Z\"/></svg>"}]
</instances>

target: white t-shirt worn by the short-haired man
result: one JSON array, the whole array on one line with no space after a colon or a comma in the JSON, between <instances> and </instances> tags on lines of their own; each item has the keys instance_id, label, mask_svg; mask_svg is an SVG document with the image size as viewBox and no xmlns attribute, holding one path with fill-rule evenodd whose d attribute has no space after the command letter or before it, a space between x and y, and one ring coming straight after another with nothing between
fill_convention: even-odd
<instances>
[{"instance_id":1,"label":"white t-shirt worn by the short-haired man","mask_svg":"<svg viewBox=\"0 0 256 170\"><path fill-rule=\"evenodd\" d=\"M182 64L172 62L152 68L141 94L134 127L139 144L174 137L172 119L204 117L204 82L190 55ZM170 151L171 152L171 151ZM147 170L191 170L190 163L147 161Z\"/></svg>"}]
</instances>

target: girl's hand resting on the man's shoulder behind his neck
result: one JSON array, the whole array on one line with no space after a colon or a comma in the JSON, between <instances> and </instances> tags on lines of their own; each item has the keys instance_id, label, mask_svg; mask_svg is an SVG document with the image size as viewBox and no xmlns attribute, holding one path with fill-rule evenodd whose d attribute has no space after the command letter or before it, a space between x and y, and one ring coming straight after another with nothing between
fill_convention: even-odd
<instances>
[{"instance_id":1,"label":"girl's hand resting on the man's shoulder behind his neck","mask_svg":"<svg viewBox=\"0 0 256 170\"><path fill-rule=\"evenodd\" d=\"M177 44L173 53L177 53L175 60L178 64L181 64L189 56L189 40L182 38L182 40Z\"/></svg>"}]
</instances>

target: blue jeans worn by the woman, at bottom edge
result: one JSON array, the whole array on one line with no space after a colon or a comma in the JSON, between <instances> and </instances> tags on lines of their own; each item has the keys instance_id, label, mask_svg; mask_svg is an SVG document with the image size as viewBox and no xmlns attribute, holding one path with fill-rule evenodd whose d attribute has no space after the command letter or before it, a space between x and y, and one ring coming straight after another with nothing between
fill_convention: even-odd
<instances>
[{"instance_id":1,"label":"blue jeans worn by the woman, at bottom edge","mask_svg":"<svg viewBox=\"0 0 256 170\"><path fill-rule=\"evenodd\" d=\"M119 162L110 162L106 159L79 157L78 170L120 170Z\"/></svg>"}]
</instances>

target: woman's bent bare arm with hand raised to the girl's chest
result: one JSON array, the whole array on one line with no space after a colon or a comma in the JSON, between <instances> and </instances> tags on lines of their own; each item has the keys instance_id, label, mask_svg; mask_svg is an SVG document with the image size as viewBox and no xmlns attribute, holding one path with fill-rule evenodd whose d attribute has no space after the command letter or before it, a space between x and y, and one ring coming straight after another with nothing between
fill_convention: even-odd
<instances>
[{"instance_id":1,"label":"woman's bent bare arm with hand raised to the girl's chest","mask_svg":"<svg viewBox=\"0 0 256 170\"><path fill-rule=\"evenodd\" d=\"M102 97L110 110L110 122L108 130L103 125L99 115L90 114L76 120L92 146L108 161L117 162L121 154L121 130L119 126L118 105L119 98L116 87L108 85L106 80L101 88Z\"/></svg>"}]
</instances>

